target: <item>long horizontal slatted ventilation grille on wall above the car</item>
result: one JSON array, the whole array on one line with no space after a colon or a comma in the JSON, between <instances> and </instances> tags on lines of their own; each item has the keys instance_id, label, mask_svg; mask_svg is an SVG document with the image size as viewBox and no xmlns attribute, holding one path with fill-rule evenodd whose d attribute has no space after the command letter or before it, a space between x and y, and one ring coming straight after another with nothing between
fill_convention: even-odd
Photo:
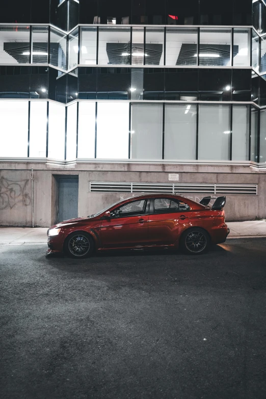
<instances>
[{"instance_id":1,"label":"long horizontal slatted ventilation grille on wall above the car","mask_svg":"<svg viewBox=\"0 0 266 399\"><path fill-rule=\"evenodd\" d=\"M164 194L242 194L257 195L257 184L203 184L203 183L127 183L91 181L91 192L103 193L164 193Z\"/></svg>"}]
</instances>

